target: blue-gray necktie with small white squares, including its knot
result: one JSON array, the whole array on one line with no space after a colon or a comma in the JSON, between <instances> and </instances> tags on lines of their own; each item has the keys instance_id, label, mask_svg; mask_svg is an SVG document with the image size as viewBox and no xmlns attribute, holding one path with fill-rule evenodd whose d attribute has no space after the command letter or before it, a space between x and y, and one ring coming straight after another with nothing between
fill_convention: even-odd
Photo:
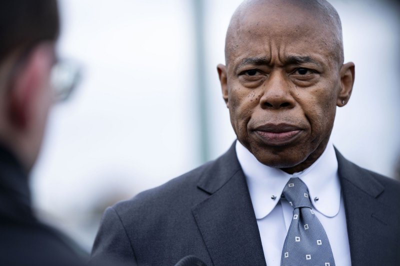
<instances>
[{"instance_id":1,"label":"blue-gray necktie with small white squares, including its knot","mask_svg":"<svg viewBox=\"0 0 400 266\"><path fill-rule=\"evenodd\" d=\"M328 237L311 209L307 186L298 177L290 178L283 195L294 209L280 265L334 266Z\"/></svg>"}]
</instances>

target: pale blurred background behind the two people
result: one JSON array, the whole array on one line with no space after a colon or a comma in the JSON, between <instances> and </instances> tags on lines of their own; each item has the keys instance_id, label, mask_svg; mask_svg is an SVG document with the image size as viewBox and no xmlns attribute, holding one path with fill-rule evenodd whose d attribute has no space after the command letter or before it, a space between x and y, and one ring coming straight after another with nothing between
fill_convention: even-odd
<instances>
[{"instance_id":1,"label":"pale blurred background behind the two people","mask_svg":"<svg viewBox=\"0 0 400 266\"><path fill-rule=\"evenodd\" d=\"M31 178L40 217L90 250L105 207L222 154L234 141L216 72L241 0L59 0L61 57L82 64L53 107ZM400 11L331 0L355 63L332 140L345 157L398 176Z\"/></svg>"}]
</instances>

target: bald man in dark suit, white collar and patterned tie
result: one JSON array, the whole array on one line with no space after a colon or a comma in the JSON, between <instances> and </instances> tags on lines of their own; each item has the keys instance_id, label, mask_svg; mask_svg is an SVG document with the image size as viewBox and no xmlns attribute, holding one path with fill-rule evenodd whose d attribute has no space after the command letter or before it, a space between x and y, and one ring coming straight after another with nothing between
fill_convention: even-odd
<instances>
[{"instance_id":1,"label":"bald man in dark suit, white collar and patterned tie","mask_svg":"<svg viewBox=\"0 0 400 266\"><path fill-rule=\"evenodd\" d=\"M245 1L225 45L217 70L237 141L107 208L93 261L397 265L400 184L329 141L354 81L336 10L324 0Z\"/></svg>"}]
</instances>

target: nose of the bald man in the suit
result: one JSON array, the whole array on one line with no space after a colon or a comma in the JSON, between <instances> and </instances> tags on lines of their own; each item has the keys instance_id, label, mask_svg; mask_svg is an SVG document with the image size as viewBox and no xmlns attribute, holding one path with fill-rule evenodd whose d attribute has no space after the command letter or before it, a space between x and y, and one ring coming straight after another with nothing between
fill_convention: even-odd
<instances>
[{"instance_id":1,"label":"nose of the bald man in the suit","mask_svg":"<svg viewBox=\"0 0 400 266\"><path fill-rule=\"evenodd\" d=\"M295 100L290 94L290 86L284 73L272 72L265 83L264 93L260 98L261 108L293 108Z\"/></svg>"}]
</instances>

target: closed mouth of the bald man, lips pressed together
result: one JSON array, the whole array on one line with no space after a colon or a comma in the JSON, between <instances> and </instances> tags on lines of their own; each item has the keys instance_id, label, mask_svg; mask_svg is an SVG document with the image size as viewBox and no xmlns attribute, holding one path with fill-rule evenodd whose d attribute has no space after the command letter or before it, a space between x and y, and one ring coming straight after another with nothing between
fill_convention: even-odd
<instances>
[{"instance_id":1,"label":"closed mouth of the bald man, lips pressed together","mask_svg":"<svg viewBox=\"0 0 400 266\"><path fill-rule=\"evenodd\" d=\"M300 135L302 129L285 123L267 123L256 127L253 131L265 144L282 146L293 142Z\"/></svg>"}]
</instances>

